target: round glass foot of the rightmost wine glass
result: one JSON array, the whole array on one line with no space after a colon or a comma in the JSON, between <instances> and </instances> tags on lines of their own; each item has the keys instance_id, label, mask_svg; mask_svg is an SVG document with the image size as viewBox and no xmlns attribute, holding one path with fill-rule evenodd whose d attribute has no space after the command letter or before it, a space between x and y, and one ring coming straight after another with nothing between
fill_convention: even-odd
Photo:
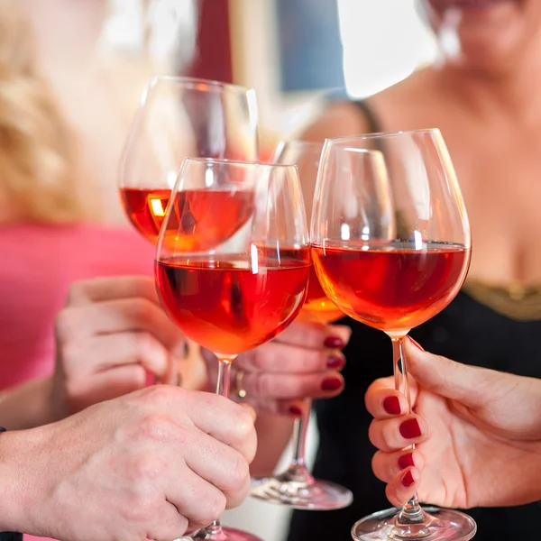
<instances>
[{"instance_id":1,"label":"round glass foot of the rightmost wine glass","mask_svg":"<svg viewBox=\"0 0 541 541\"><path fill-rule=\"evenodd\" d=\"M468 541L477 532L473 518L452 509L423 508L422 524L398 525L400 509L373 513L353 525L355 541Z\"/></svg>"}]
</instances>

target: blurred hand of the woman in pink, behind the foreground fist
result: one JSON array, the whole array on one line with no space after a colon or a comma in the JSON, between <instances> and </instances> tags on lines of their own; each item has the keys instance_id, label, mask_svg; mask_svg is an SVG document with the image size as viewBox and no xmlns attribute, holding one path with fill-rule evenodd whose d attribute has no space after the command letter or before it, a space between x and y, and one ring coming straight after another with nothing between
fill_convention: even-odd
<instances>
[{"instance_id":1,"label":"blurred hand of the woman in pink, behind the foreground fist","mask_svg":"<svg viewBox=\"0 0 541 541\"><path fill-rule=\"evenodd\" d=\"M54 419L140 390L153 379L176 384L185 352L154 281L144 276L75 283L57 316L56 342Z\"/></svg>"}]
</instances>

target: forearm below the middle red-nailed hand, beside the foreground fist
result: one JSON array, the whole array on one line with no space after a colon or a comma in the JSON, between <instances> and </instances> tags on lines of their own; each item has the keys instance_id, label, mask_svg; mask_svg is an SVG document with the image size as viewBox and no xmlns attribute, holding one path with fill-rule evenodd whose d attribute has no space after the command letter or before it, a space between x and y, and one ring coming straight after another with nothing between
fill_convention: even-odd
<instances>
[{"instance_id":1,"label":"forearm below the middle red-nailed hand, beside the foreground fist","mask_svg":"<svg viewBox=\"0 0 541 541\"><path fill-rule=\"evenodd\" d=\"M293 419L278 415L258 416L255 423L257 430L257 454L250 471L253 477L270 475L280 456L289 443L293 429Z\"/></svg>"}]
</instances>

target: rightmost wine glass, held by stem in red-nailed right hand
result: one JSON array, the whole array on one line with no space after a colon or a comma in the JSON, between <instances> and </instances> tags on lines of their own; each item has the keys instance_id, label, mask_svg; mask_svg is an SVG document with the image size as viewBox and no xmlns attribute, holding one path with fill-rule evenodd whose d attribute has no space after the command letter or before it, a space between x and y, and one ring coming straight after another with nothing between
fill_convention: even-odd
<instances>
[{"instance_id":1,"label":"rightmost wine glass, held by stem in red-nailed right hand","mask_svg":"<svg viewBox=\"0 0 541 541\"><path fill-rule=\"evenodd\" d=\"M311 252L326 294L345 314L390 336L397 390L411 400L403 341L463 284L471 234L438 130L327 140L316 182ZM475 522L450 509L402 509L359 520L356 540L465 541Z\"/></svg>"}]
</instances>

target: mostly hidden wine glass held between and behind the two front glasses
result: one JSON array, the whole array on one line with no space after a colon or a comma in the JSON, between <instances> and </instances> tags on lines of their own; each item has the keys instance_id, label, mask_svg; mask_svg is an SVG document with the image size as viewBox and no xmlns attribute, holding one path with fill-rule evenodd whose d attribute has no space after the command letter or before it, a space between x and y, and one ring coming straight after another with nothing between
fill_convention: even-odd
<instances>
[{"instance_id":1,"label":"mostly hidden wine glass held between and behind the two front glasses","mask_svg":"<svg viewBox=\"0 0 541 541\"><path fill-rule=\"evenodd\" d=\"M297 165L303 195L307 202L307 215L311 211L322 148L322 142L280 142L272 159L275 163ZM307 299L298 317L305 321L324 324L344 317L343 312L321 289L313 267L310 268ZM294 455L288 469L272 477L253 480L254 498L294 509L342 509L351 504L353 500L351 491L330 481L317 480L307 469L305 444L311 408L312 400L304 399L302 417L295 419Z\"/></svg>"}]
</instances>

